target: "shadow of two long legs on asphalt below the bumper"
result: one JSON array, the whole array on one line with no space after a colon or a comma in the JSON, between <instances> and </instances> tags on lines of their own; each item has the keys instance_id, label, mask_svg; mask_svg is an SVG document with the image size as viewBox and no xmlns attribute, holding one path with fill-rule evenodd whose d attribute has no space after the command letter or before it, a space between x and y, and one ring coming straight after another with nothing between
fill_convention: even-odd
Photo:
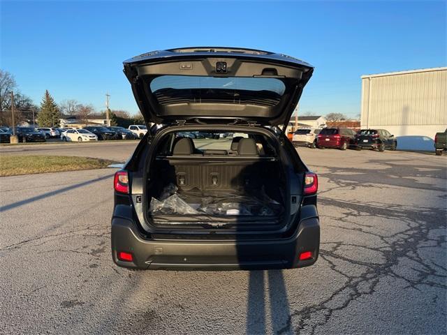
<instances>
[{"instance_id":1,"label":"shadow of two long legs on asphalt below the bumper","mask_svg":"<svg viewBox=\"0 0 447 335\"><path fill-rule=\"evenodd\" d=\"M271 327L266 306L270 306ZM250 271L246 334L282 334L290 315L282 270Z\"/></svg>"}]
</instances>

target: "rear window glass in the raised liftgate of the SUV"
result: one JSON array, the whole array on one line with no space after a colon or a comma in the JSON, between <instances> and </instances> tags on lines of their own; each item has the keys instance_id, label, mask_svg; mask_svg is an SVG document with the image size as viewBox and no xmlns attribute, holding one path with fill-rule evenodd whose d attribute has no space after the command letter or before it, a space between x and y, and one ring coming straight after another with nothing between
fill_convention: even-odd
<instances>
[{"instance_id":1,"label":"rear window glass in the raised liftgate of the SUV","mask_svg":"<svg viewBox=\"0 0 447 335\"><path fill-rule=\"evenodd\" d=\"M274 106L286 86L276 78L162 75L152 80L150 90L161 104L219 101Z\"/></svg>"}]
</instances>

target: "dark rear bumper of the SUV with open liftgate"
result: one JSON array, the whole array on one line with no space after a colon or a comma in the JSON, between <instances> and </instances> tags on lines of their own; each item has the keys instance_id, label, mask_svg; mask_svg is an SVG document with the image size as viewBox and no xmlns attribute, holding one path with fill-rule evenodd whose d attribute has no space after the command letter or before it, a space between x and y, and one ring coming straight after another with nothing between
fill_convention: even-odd
<instances>
[{"instance_id":1,"label":"dark rear bumper of the SUV with open liftgate","mask_svg":"<svg viewBox=\"0 0 447 335\"><path fill-rule=\"evenodd\" d=\"M142 239L135 224L112 218L112 258L116 265L135 269L290 269L307 267L318 258L318 218L301 221L288 239L258 241L185 241ZM132 253L133 262L117 259L117 253ZM298 260L312 251L312 258Z\"/></svg>"}]
</instances>

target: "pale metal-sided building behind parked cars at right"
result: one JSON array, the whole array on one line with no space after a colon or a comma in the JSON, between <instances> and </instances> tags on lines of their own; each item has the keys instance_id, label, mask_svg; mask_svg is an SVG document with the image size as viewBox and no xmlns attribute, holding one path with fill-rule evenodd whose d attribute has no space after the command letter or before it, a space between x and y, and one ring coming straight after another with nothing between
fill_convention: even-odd
<instances>
[{"instance_id":1,"label":"pale metal-sided building behind parked cars at right","mask_svg":"<svg viewBox=\"0 0 447 335\"><path fill-rule=\"evenodd\" d=\"M433 149L435 133L447 128L447 68L363 75L360 126L401 137L400 149Z\"/></svg>"}]
</instances>

